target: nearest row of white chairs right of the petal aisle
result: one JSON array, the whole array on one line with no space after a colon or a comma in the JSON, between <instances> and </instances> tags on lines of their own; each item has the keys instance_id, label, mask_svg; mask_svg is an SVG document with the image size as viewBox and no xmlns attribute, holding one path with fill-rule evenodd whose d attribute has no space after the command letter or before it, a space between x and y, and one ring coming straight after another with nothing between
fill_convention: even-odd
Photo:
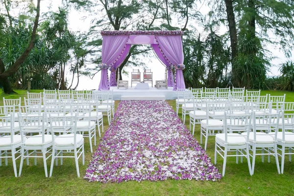
<instances>
[{"instance_id":1,"label":"nearest row of white chairs right of the petal aisle","mask_svg":"<svg viewBox=\"0 0 294 196\"><path fill-rule=\"evenodd\" d=\"M254 173L257 155L262 156L262 162L265 155L268 155L268 162L270 156L274 156L278 173L284 172L285 155L289 155L291 161L291 155L294 154L294 114L285 114L284 111L263 115L257 115L255 112L249 115L225 113L220 123L221 132L215 135L215 164L217 155L221 155L222 175L225 174L226 159L230 156L236 157L237 164L239 157L241 162L243 157L246 157L250 175ZM249 157L252 158L252 165Z\"/></svg>"}]
</instances>

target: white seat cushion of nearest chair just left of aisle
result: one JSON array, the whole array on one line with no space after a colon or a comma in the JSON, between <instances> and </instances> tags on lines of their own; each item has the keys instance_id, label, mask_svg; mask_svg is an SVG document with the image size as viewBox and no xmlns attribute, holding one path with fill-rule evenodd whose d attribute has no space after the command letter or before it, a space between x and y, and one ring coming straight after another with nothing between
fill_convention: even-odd
<instances>
[{"instance_id":1,"label":"white seat cushion of nearest chair just left of aisle","mask_svg":"<svg viewBox=\"0 0 294 196\"><path fill-rule=\"evenodd\" d=\"M56 147L73 147L74 146L74 134L64 134L57 136L54 140ZM76 144L84 143L83 135L76 134Z\"/></svg>"}]
</instances>

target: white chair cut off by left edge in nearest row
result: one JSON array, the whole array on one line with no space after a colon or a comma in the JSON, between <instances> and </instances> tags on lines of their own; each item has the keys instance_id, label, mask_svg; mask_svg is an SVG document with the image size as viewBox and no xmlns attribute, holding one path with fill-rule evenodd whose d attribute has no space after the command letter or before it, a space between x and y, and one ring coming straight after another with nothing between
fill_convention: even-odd
<instances>
[{"instance_id":1,"label":"white chair cut off by left edge in nearest row","mask_svg":"<svg viewBox=\"0 0 294 196\"><path fill-rule=\"evenodd\" d=\"M16 156L16 154L21 151L22 138L15 134L14 110L9 116L3 115L3 107L0 106L0 166L2 165L2 158L5 160L5 166L8 165L8 158L12 158L14 176L17 177L15 160L20 158L20 155ZM14 106L12 107L14 109ZM9 154L11 155L9 156Z\"/></svg>"}]
</instances>

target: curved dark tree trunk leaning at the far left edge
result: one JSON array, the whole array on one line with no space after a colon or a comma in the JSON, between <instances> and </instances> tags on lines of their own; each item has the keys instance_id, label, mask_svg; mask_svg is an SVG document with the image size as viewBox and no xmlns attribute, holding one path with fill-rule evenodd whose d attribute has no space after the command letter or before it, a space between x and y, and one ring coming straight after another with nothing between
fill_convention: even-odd
<instances>
[{"instance_id":1,"label":"curved dark tree trunk leaning at the far left edge","mask_svg":"<svg viewBox=\"0 0 294 196\"><path fill-rule=\"evenodd\" d=\"M36 17L35 17L34 25L32 28L31 38L30 38L30 41L28 42L28 45L25 51L11 65L6 65L6 66L4 65L4 62L2 61L2 58L1 58L2 54L0 53L0 84L2 85L3 91L6 94L15 93L11 89L11 85L9 83L8 77L12 76L14 73L18 71L19 67L24 63L25 59L29 55L29 52L34 47L37 27L39 23L39 16L40 16L40 1L41 0L37 0ZM10 26L10 28L12 28L12 26ZM10 31L7 29L6 32L9 33ZM9 38L9 34L6 34L5 37Z\"/></svg>"}]
</instances>

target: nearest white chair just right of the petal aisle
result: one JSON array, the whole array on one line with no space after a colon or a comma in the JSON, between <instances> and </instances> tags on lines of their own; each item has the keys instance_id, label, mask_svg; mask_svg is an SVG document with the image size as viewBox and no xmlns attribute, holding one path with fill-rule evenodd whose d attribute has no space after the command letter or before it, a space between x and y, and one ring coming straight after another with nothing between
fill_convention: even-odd
<instances>
[{"instance_id":1,"label":"nearest white chair just right of the petal aisle","mask_svg":"<svg viewBox=\"0 0 294 196\"><path fill-rule=\"evenodd\" d=\"M227 115L225 112L223 123L223 133L216 134L215 164L217 164L217 155L220 154L223 158L222 176L224 176L227 157L236 156L237 164L239 157L246 157L249 174L252 175L249 145L246 139L239 134L250 131L251 115ZM228 154L231 151L234 154Z\"/></svg>"}]
</instances>

